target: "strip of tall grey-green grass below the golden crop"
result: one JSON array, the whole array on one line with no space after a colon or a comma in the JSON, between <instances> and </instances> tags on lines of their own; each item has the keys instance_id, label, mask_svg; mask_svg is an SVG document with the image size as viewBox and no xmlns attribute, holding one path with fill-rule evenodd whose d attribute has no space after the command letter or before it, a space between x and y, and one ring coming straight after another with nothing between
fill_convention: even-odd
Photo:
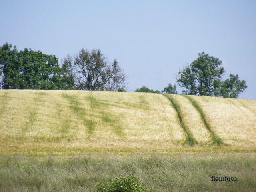
<instances>
[{"instance_id":1,"label":"strip of tall grey-green grass below the golden crop","mask_svg":"<svg viewBox=\"0 0 256 192\"><path fill-rule=\"evenodd\" d=\"M0 156L1 192L93 192L104 180L128 174L158 192L252 192L256 189L256 156ZM213 175L233 176L237 181L212 182Z\"/></svg>"}]
</instances>

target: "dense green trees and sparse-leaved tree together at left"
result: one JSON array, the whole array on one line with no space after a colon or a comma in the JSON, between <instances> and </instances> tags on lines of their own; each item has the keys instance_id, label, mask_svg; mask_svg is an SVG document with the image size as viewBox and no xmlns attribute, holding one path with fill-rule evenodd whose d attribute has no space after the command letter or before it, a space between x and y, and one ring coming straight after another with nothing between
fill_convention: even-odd
<instances>
[{"instance_id":1,"label":"dense green trees and sparse-leaved tree together at left","mask_svg":"<svg viewBox=\"0 0 256 192\"><path fill-rule=\"evenodd\" d=\"M124 90L126 74L100 50L80 50L58 64L54 55L4 44L0 47L0 88L60 90Z\"/></svg>"}]
</instances>

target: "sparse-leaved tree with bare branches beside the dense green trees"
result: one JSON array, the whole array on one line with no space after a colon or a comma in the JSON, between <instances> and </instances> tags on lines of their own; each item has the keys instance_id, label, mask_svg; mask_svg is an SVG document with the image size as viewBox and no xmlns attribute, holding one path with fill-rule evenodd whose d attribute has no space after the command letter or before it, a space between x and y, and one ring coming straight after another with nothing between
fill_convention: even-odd
<instances>
[{"instance_id":1,"label":"sparse-leaved tree with bare branches beside the dense green trees","mask_svg":"<svg viewBox=\"0 0 256 192\"><path fill-rule=\"evenodd\" d=\"M80 90L117 91L125 86L126 74L117 60L108 63L100 50L80 50L76 56L64 59L64 77Z\"/></svg>"}]
</instances>

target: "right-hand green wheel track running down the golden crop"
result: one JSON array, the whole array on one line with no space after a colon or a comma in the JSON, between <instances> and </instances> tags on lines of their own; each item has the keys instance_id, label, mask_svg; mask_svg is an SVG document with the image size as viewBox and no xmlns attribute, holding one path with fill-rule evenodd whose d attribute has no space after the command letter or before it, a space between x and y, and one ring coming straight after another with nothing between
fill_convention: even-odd
<instances>
[{"instance_id":1,"label":"right-hand green wheel track running down the golden crop","mask_svg":"<svg viewBox=\"0 0 256 192\"><path fill-rule=\"evenodd\" d=\"M192 97L188 96L188 95L182 95L185 98L187 98L192 105L194 106L194 108L196 108L196 110L198 111L198 113L200 114L201 120L204 123L204 126L209 130L209 132L211 133L211 137L212 137L212 142L213 144L224 144L224 142L222 142L221 138L218 137L216 135L216 133L212 130L210 123L206 120L206 115L204 113L204 111L202 110L201 106L196 102L196 100L194 100Z\"/></svg>"}]
</instances>

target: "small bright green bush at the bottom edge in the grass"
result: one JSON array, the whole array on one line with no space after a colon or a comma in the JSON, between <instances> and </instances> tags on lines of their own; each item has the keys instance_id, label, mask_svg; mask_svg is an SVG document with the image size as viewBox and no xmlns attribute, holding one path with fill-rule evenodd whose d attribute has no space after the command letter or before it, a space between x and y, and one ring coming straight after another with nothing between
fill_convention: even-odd
<instances>
[{"instance_id":1,"label":"small bright green bush at the bottom edge in the grass","mask_svg":"<svg viewBox=\"0 0 256 192\"><path fill-rule=\"evenodd\" d=\"M133 174L106 180L97 186L96 192L149 192Z\"/></svg>"}]
</instances>

